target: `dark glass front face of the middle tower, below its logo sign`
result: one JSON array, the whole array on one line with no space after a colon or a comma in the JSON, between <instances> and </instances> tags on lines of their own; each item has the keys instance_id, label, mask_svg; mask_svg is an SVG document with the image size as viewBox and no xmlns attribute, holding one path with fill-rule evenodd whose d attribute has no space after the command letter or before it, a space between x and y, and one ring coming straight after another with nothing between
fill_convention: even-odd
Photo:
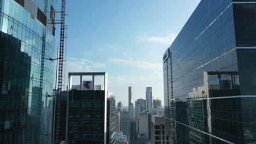
<instances>
[{"instance_id":1,"label":"dark glass front face of the middle tower, below its logo sign","mask_svg":"<svg viewBox=\"0 0 256 144\"><path fill-rule=\"evenodd\" d=\"M105 91L69 91L68 143L104 143Z\"/></svg>"}]
</instances>

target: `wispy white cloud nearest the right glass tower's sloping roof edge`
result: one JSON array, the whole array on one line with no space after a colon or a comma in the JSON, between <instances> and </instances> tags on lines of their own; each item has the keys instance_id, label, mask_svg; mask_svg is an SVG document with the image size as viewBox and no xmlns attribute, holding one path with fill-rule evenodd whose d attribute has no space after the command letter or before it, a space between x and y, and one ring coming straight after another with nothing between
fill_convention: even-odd
<instances>
[{"instance_id":1,"label":"wispy white cloud nearest the right glass tower's sloping roof edge","mask_svg":"<svg viewBox=\"0 0 256 144\"><path fill-rule=\"evenodd\" d=\"M171 44L176 37L177 37L177 34L167 34L163 37L138 35L136 39L138 39L139 41L148 42L148 43Z\"/></svg>"}]
</instances>

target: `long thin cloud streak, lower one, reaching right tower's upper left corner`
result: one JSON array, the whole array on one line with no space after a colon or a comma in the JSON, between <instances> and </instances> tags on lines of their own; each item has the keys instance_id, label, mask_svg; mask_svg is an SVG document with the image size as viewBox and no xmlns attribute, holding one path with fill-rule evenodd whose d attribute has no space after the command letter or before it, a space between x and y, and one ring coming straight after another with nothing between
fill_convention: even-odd
<instances>
[{"instance_id":1,"label":"long thin cloud streak, lower one, reaching right tower's upper left corner","mask_svg":"<svg viewBox=\"0 0 256 144\"><path fill-rule=\"evenodd\" d=\"M125 59L109 58L109 62L117 63L121 65L130 65L135 68L143 68L143 69L150 69L150 70L162 69L162 64L150 63L150 62L144 62L144 61L128 61Z\"/></svg>"}]
</instances>

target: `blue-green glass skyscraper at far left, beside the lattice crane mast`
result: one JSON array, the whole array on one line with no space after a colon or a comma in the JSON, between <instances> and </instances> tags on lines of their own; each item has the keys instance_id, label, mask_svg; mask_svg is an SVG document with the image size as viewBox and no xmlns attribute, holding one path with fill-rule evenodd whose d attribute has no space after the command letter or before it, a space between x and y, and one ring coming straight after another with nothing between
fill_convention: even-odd
<instances>
[{"instance_id":1,"label":"blue-green glass skyscraper at far left, beside the lattice crane mast","mask_svg":"<svg viewBox=\"0 0 256 144\"><path fill-rule=\"evenodd\" d=\"M56 0L0 0L0 143L51 143Z\"/></svg>"}]
</instances>

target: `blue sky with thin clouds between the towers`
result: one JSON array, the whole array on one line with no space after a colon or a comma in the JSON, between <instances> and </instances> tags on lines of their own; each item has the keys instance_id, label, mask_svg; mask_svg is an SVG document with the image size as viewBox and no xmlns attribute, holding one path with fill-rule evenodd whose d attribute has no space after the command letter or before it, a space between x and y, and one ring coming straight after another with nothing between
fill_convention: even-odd
<instances>
[{"instance_id":1,"label":"blue sky with thin clouds between the towers","mask_svg":"<svg viewBox=\"0 0 256 144\"><path fill-rule=\"evenodd\" d=\"M67 1L66 71L107 71L108 89L123 105L128 86L133 101L145 99L146 87L154 99L164 100L162 55L199 2Z\"/></svg>"}]
</instances>

